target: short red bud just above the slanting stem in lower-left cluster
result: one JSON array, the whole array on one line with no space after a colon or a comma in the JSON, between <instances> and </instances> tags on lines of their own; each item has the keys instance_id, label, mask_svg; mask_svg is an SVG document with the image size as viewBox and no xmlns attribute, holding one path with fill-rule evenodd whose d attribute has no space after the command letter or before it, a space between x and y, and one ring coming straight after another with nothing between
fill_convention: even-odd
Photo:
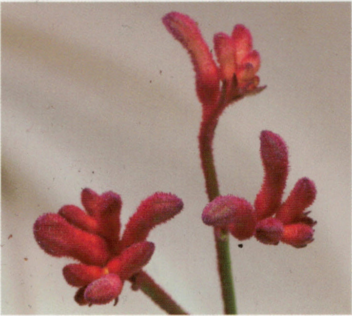
<instances>
[{"instance_id":1,"label":"short red bud just above the slanting stem in lower-left cluster","mask_svg":"<svg viewBox=\"0 0 352 316\"><path fill-rule=\"evenodd\" d=\"M126 280L145 266L155 250L153 242L142 241L126 248L106 265L110 273L116 273L121 280Z\"/></svg>"}]
</instances>

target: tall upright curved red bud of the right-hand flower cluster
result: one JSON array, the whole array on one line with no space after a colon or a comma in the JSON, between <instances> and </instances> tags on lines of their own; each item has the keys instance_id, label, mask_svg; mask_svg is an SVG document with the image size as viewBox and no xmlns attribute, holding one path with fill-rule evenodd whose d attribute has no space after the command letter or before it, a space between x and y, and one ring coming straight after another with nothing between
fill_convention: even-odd
<instances>
[{"instance_id":1,"label":"tall upright curved red bud of the right-hand flower cluster","mask_svg":"<svg viewBox=\"0 0 352 316\"><path fill-rule=\"evenodd\" d=\"M261 132L260 155L264 181L254 201L258 220L272 216L279 208L289 170L287 146L279 135Z\"/></svg>"}]
</instances>

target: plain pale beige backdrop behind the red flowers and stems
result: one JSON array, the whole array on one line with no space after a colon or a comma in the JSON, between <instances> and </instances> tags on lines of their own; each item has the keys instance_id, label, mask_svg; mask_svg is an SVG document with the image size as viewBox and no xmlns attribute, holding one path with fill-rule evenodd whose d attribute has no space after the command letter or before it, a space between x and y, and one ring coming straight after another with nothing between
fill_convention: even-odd
<instances>
[{"instance_id":1,"label":"plain pale beige backdrop behind the red flowers and stems","mask_svg":"<svg viewBox=\"0 0 352 316\"><path fill-rule=\"evenodd\" d=\"M160 20L173 10L193 17L211 45L215 32L244 23L262 57L268 88L219 120L221 193L253 202L263 129L289 146L285 196L303 176L317 186L313 244L252 238L240 249L231 239L239 313L351 313L348 2L2 3L1 312L162 313L128 283L115 307L79 307L61 275L72 260L35 243L35 219L80 205L88 186L121 195L123 223L155 191L182 197L184 211L150 235L156 252L146 270L189 312L221 313L212 230L200 220L207 198L194 73Z\"/></svg>"}]
</instances>

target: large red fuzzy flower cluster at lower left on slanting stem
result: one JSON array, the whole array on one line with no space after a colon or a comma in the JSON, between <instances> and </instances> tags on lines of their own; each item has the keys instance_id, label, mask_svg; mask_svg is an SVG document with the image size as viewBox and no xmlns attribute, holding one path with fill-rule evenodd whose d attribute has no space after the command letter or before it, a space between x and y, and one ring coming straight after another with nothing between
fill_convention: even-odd
<instances>
[{"instance_id":1,"label":"large red fuzzy flower cluster at lower left on slanting stem","mask_svg":"<svg viewBox=\"0 0 352 316\"><path fill-rule=\"evenodd\" d=\"M155 246L146 241L149 232L178 214L183 202L170 193L157 192L146 198L129 219L120 237L121 198L114 192L98 195L83 189L81 202L47 213L34 224L39 246L55 257L72 257L80 263L63 268L67 283L79 287L78 304L106 304L117 298L125 280L132 280L148 263Z\"/></svg>"}]
</instances>

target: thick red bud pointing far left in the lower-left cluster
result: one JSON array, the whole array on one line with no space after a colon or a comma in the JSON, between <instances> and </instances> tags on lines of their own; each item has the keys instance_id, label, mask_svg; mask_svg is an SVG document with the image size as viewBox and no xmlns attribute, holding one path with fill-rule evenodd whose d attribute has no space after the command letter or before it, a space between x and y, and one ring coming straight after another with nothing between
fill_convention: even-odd
<instances>
[{"instance_id":1,"label":"thick red bud pointing far left in the lower-left cluster","mask_svg":"<svg viewBox=\"0 0 352 316\"><path fill-rule=\"evenodd\" d=\"M68 256L86 264L103 265L110 256L103 238L80 230L59 214L39 217L33 231L39 246L55 257Z\"/></svg>"}]
</instances>

